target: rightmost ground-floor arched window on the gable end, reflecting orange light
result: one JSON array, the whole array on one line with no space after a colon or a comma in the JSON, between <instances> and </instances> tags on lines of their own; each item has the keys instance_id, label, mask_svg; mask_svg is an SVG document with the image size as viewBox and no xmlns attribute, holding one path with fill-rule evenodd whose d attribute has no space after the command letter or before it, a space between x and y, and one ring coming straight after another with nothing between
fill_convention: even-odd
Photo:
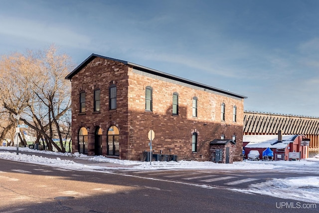
<instances>
[{"instance_id":1,"label":"rightmost ground-floor arched window on the gable end, reflecting orange light","mask_svg":"<svg viewBox=\"0 0 319 213\"><path fill-rule=\"evenodd\" d=\"M108 130L106 154L114 156L120 154L120 132L116 126L111 126Z\"/></svg>"}]
</instances>

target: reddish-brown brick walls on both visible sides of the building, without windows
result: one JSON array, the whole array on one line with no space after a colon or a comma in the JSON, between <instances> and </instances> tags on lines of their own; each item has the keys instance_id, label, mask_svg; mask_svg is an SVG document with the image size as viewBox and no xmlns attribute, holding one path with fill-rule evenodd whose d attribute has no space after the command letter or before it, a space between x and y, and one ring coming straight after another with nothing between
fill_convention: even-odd
<instances>
[{"instance_id":1,"label":"reddish-brown brick walls on both visible sides of the building, without windows","mask_svg":"<svg viewBox=\"0 0 319 213\"><path fill-rule=\"evenodd\" d=\"M89 128L89 155L94 154L94 132L103 130L103 154L106 134L111 125L120 130L120 159L141 160L149 151L148 132L153 129L155 153L178 155L178 159L211 160L209 142L236 135L234 161L242 153L243 99L179 85L158 76L145 76L123 63L103 58L93 59L72 77L72 151L77 152L78 131ZM117 109L109 110L109 87L117 85ZM145 111L145 88L153 88L153 112ZM94 88L101 89L101 111L93 112ZM86 112L79 113L79 92L86 92ZM178 93L179 114L172 115L172 94ZM192 117L192 98L197 97L197 118ZM225 121L220 119L221 103L225 103ZM232 121L233 106L237 122ZM197 132L197 152L192 153L192 133Z\"/></svg>"}]
</instances>

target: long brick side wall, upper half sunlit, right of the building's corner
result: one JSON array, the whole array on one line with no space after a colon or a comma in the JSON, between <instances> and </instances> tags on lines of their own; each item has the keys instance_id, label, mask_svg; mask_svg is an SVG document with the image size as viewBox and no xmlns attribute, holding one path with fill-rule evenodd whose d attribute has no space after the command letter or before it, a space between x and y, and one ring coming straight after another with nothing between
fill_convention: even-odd
<instances>
[{"instance_id":1,"label":"long brick side wall, upper half sunlit, right of the building's corner","mask_svg":"<svg viewBox=\"0 0 319 213\"><path fill-rule=\"evenodd\" d=\"M145 111L145 88L153 88L153 112ZM172 94L178 93L179 115L172 115ZM192 117L192 98L197 97L197 118ZM225 122L221 122L221 103L225 103ZM233 106L237 107L237 122L233 122ZM243 130L243 100L209 93L139 75L129 69L129 158L149 151L148 132L153 129L154 153L178 155L178 159L210 160L209 142L236 135L236 161L241 160ZM206 124L206 125L204 125ZM192 153L192 133L198 133L197 152ZM201 157L202 156L202 157Z\"/></svg>"}]
</instances>

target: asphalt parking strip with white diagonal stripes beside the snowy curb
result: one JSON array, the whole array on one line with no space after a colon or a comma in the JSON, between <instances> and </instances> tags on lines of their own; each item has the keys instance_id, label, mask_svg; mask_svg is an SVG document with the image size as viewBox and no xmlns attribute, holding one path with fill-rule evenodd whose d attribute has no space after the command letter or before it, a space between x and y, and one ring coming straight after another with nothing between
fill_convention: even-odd
<instances>
[{"instance_id":1,"label":"asphalt parking strip with white diagonal stripes beside the snowy curb","mask_svg":"<svg viewBox=\"0 0 319 213\"><path fill-rule=\"evenodd\" d=\"M206 186L224 189L247 189L251 184L263 183L272 179L319 176L319 172L308 173L295 170L122 170L115 173L158 181Z\"/></svg>"}]
</instances>

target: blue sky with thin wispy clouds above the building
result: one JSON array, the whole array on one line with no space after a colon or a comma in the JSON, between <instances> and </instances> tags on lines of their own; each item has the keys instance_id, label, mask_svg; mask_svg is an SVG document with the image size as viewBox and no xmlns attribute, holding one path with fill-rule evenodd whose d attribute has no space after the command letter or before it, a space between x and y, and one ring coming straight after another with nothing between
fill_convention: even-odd
<instances>
[{"instance_id":1,"label":"blue sky with thin wispy clouds above the building","mask_svg":"<svg viewBox=\"0 0 319 213\"><path fill-rule=\"evenodd\" d=\"M0 0L0 55L55 44L319 116L318 0Z\"/></svg>"}]
</instances>

